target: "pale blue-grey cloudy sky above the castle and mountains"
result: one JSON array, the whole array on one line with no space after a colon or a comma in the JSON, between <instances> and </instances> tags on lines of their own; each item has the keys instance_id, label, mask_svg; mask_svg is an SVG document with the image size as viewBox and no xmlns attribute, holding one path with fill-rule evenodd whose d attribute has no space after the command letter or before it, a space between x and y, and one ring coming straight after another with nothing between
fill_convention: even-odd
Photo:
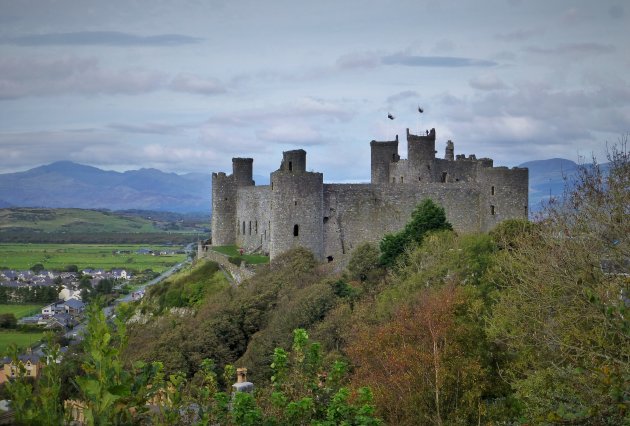
<instances>
[{"instance_id":1,"label":"pale blue-grey cloudy sky above the castle and mountains","mask_svg":"<svg viewBox=\"0 0 630 426\"><path fill-rule=\"evenodd\" d=\"M495 165L601 158L630 131L629 40L624 0L0 0L0 173L264 175L304 148L365 181L407 127Z\"/></svg>"}]
</instances>

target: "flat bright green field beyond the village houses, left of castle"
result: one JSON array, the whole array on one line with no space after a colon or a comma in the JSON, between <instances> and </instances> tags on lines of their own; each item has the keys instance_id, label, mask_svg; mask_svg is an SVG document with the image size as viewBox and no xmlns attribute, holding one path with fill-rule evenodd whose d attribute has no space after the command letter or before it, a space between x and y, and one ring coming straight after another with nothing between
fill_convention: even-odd
<instances>
[{"instance_id":1,"label":"flat bright green field beyond the village houses, left of castle","mask_svg":"<svg viewBox=\"0 0 630 426\"><path fill-rule=\"evenodd\" d=\"M68 265L77 265L79 269L152 269L162 272L186 259L185 254L136 254L135 251L140 248L154 251L181 249L176 246L139 244L0 244L0 268L25 270L41 263L44 268L55 271L64 270ZM130 253L116 253L121 250Z\"/></svg>"}]
</instances>

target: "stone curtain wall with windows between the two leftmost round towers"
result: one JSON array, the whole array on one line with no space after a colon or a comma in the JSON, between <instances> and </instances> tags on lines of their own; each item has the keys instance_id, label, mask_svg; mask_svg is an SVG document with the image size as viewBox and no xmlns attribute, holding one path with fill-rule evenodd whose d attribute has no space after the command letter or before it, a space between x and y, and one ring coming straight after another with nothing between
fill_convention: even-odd
<instances>
[{"instance_id":1,"label":"stone curtain wall with windows between the two leftmost round towers","mask_svg":"<svg viewBox=\"0 0 630 426\"><path fill-rule=\"evenodd\" d=\"M248 186L236 193L236 245L247 252L269 252L271 187Z\"/></svg>"}]
</instances>

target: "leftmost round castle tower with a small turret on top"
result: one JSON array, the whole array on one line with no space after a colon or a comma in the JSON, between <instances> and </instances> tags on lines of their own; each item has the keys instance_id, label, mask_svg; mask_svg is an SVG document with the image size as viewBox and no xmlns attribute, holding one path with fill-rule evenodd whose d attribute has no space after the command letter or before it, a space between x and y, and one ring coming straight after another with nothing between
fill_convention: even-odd
<instances>
[{"instance_id":1,"label":"leftmost round castle tower with a small turret on top","mask_svg":"<svg viewBox=\"0 0 630 426\"><path fill-rule=\"evenodd\" d=\"M212 245L236 242L236 190L254 185L252 158L232 158L232 174L212 173Z\"/></svg>"}]
</instances>

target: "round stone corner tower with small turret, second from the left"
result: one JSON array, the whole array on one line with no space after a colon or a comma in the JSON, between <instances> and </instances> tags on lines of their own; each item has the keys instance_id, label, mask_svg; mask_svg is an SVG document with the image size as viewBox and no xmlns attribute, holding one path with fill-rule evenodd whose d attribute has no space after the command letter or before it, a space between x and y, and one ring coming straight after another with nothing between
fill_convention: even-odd
<instances>
[{"instance_id":1,"label":"round stone corner tower with small turret, second from the left","mask_svg":"<svg viewBox=\"0 0 630 426\"><path fill-rule=\"evenodd\" d=\"M294 247L323 258L324 178L306 171L304 150L283 153L280 169L271 174L271 239L269 255Z\"/></svg>"}]
</instances>

